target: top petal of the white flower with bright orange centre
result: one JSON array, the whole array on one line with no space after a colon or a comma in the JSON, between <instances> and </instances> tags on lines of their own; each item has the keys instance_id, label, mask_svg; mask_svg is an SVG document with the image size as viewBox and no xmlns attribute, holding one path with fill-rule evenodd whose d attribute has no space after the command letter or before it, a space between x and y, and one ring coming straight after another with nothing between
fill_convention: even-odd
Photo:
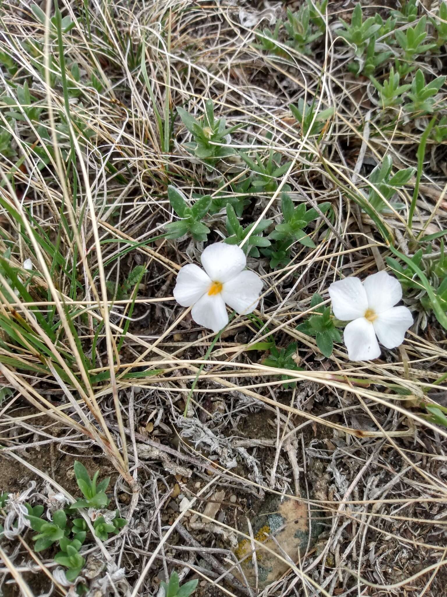
<instances>
[{"instance_id":1,"label":"top petal of the white flower with bright orange centre","mask_svg":"<svg viewBox=\"0 0 447 597\"><path fill-rule=\"evenodd\" d=\"M208 245L200 260L212 281L222 284L237 276L247 263L244 251L237 245L227 245L226 242Z\"/></svg>"}]
</instances>

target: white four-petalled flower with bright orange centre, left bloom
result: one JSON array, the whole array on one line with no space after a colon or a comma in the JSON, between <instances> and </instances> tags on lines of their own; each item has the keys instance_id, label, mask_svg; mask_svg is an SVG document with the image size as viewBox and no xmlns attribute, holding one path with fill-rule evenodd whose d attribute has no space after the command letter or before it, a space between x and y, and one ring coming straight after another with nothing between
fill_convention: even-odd
<instances>
[{"instance_id":1,"label":"white four-petalled flower with bright orange centre, left bloom","mask_svg":"<svg viewBox=\"0 0 447 597\"><path fill-rule=\"evenodd\" d=\"M200 257L203 269L187 264L179 270L174 298L182 307L190 307L198 325L214 332L228 324L225 304L239 315L252 313L259 303L262 280L245 270L247 259L237 245L216 242Z\"/></svg>"}]
</instances>

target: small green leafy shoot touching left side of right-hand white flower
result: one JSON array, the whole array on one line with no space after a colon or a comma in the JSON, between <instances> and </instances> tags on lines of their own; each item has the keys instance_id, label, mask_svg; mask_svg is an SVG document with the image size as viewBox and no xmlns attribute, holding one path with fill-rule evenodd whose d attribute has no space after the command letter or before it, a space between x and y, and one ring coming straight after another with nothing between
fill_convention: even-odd
<instances>
[{"instance_id":1,"label":"small green leafy shoot touching left side of right-hand white flower","mask_svg":"<svg viewBox=\"0 0 447 597\"><path fill-rule=\"evenodd\" d=\"M306 336L315 338L320 352L329 358L334 350L334 342L341 342L342 337L336 328L334 318L331 317L331 307L325 307L323 302L318 293L313 294L311 308L315 311L315 315L297 325L296 329Z\"/></svg>"}]
</instances>

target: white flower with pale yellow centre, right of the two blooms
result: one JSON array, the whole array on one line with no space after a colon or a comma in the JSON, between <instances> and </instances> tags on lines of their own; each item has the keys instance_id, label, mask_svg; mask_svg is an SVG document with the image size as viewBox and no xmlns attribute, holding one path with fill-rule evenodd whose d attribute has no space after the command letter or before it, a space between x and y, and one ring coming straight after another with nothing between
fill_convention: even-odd
<instances>
[{"instance_id":1,"label":"white flower with pale yellow centre, right of the two blooms","mask_svg":"<svg viewBox=\"0 0 447 597\"><path fill-rule=\"evenodd\" d=\"M395 307L402 298L402 287L386 272L373 273L363 284L359 278L333 282L329 296L336 318L350 322L343 334L350 361L377 359L377 338L386 348L399 346L413 323L409 309Z\"/></svg>"}]
</instances>

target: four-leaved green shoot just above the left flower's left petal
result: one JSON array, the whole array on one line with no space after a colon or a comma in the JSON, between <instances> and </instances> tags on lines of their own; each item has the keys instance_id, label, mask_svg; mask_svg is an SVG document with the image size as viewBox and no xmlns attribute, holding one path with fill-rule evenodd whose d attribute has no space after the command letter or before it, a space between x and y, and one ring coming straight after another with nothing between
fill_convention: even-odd
<instances>
[{"instance_id":1,"label":"four-leaved green shoot just above the left flower's left petal","mask_svg":"<svg viewBox=\"0 0 447 597\"><path fill-rule=\"evenodd\" d=\"M211 196L204 195L197 199L192 207L187 204L185 195L172 185L167 187L167 196L172 209L182 219L165 224L166 238L180 238L180 236L187 234L191 235L196 241L205 242L210 229L200 220L206 216L212 205Z\"/></svg>"}]
</instances>

